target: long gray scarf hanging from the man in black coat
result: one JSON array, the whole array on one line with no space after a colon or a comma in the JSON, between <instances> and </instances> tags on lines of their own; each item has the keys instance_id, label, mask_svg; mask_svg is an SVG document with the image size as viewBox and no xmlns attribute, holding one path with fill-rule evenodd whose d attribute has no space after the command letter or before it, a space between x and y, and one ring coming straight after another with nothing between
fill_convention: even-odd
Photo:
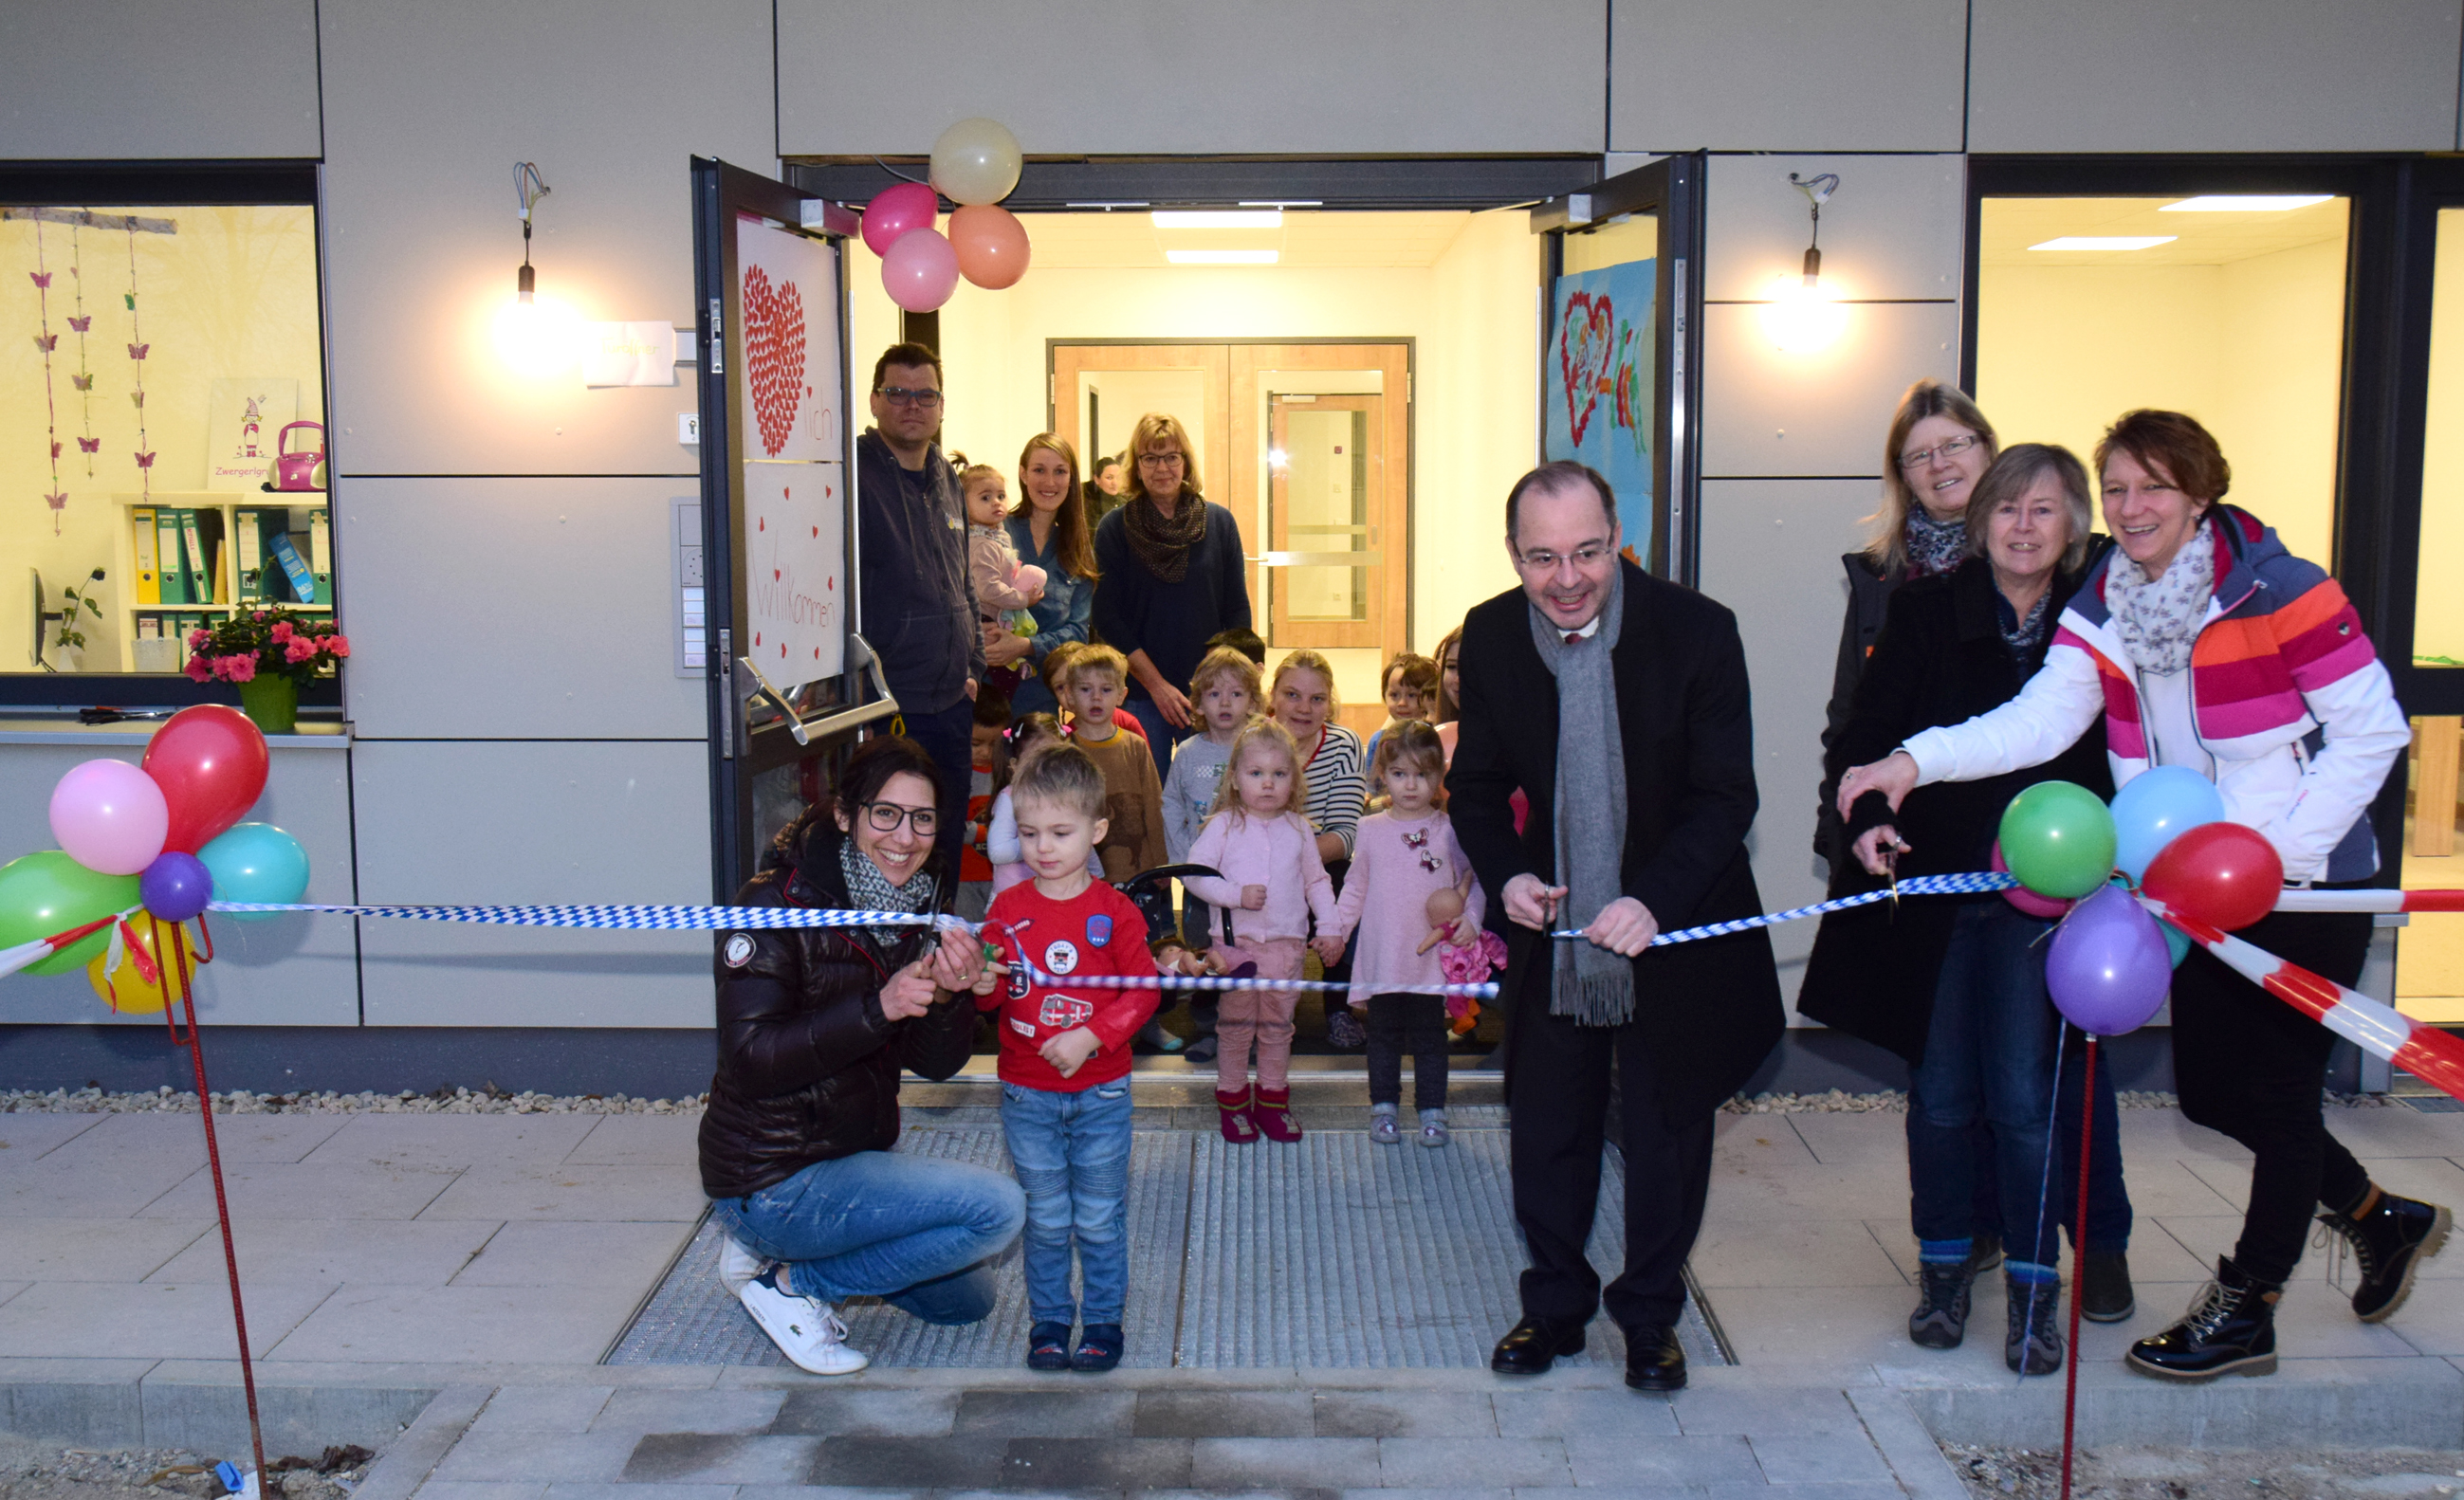
<instances>
[{"instance_id":1,"label":"long gray scarf hanging from the man in black coat","mask_svg":"<svg viewBox=\"0 0 2464 1500\"><path fill-rule=\"evenodd\" d=\"M1609 601L1599 631L1574 645L1538 606L1530 608L1533 645L1557 677L1557 904L1560 926L1587 926L1626 894L1619 862L1626 842L1626 746L1616 724L1616 672L1609 653L1626 618L1626 569L1609 574ZM1550 1015L1572 1015L1584 1027L1621 1027L1634 1020L1634 961L1579 938L1555 943Z\"/></svg>"}]
</instances>

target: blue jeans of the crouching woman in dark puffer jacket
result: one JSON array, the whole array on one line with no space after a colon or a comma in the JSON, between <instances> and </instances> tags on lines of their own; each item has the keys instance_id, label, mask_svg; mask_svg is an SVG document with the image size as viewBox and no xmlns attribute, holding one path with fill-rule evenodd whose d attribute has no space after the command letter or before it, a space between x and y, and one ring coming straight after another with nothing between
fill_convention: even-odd
<instances>
[{"instance_id":1,"label":"blue jeans of the crouching woman in dark puffer jacket","mask_svg":"<svg viewBox=\"0 0 2464 1500\"><path fill-rule=\"evenodd\" d=\"M875 1296L924 1323L981 1323L993 1310L988 1261L1027 1217L1005 1175L902 1150L813 1163L710 1212L744 1249L786 1261L796 1296Z\"/></svg>"}]
</instances>

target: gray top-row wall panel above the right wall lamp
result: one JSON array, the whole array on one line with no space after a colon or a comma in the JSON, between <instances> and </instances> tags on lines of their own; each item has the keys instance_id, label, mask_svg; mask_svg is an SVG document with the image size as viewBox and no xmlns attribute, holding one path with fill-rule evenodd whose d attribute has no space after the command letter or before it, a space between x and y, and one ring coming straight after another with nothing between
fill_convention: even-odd
<instances>
[{"instance_id":1,"label":"gray top-row wall panel above the right wall lamp","mask_svg":"<svg viewBox=\"0 0 2464 1500\"><path fill-rule=\"evenodd\" d=\"M1614 150L1959 150L1964 0L1611 0Z\"/></svg>"}]
</instances>

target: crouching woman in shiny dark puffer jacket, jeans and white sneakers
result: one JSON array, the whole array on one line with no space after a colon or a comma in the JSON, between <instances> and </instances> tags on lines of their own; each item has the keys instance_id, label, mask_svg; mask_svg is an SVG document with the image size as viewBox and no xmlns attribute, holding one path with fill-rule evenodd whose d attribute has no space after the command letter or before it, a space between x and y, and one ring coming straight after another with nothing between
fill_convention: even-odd
<instances>
[{"instance_id":1,"label":"crouching woman in shiny dark puffer jacket, jeans and white sneakers","mask_svg":"<svg viewBox=\"0 0 2464 1500\"><path fill-rule=\"evenodd\" d=\"M739 906L949 911L934 855L939 773L912 739L860 746L791 823ZM1025 1222L1003 1172L890 1150L899 1071L956 1074L976 1039L983 948L963 929L838 926L719 936L719 1071L702 1192L727 1232L719 1278L813 1374L867 1365L833 1303L880 1296L926 1323L993 1310L986 1261Z\"/></svg>"}]
</instances>

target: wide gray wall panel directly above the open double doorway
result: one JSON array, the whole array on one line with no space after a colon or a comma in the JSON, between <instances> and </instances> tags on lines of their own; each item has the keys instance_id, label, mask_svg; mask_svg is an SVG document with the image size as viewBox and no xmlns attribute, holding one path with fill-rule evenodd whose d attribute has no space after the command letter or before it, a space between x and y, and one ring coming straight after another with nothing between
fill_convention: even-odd
<instances>
[{"instance_id":1,"label":"wide gray wall panel directly above the open double doorway","mask_svg":"<svg viewBox=\"0 0 2464 1500\"><path fill-rule=\"evenodd\" d=\"M1055 153L1599 150L1604 0L779 2L779 150L922 155L991 116ZM885 180L887 182L887 180Z\"/></svg>"}]
</instances>

